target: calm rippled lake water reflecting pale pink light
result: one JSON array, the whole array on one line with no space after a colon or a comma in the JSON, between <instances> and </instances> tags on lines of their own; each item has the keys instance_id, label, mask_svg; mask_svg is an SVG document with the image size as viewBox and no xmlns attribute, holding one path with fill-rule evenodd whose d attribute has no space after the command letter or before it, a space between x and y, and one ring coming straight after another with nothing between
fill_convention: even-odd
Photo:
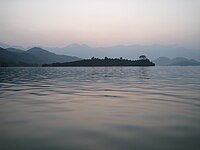
<instances>
[{"instance_id":1,"label":"calm rippled lake water reflecting pale pink light","mask_svg":"<svg viewBox=\"0 0 200 150\"><path fill-rule=\"evenodd\" d=\"M0 68L1 150L199 150L200 67Z\"/></svg>"}]
</instances>

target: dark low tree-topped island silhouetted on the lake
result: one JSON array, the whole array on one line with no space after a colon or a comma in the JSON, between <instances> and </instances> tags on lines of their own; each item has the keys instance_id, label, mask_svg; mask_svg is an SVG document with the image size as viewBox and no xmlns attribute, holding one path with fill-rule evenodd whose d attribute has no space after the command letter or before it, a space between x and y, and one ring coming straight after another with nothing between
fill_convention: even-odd
<instances>
[{"instance_id":1,"label":"dark low tree-topped island silhouetted on the lake","mask_svg":"<svg viewBox=\"0 0 200 150\"><path fill-rule=\"evenodd\" d=\"M43 64L43 67L103 67L103 66L155 66L145 55L141 55L138 60L128 60L120 58L104 59L92 57L73 62Z\"/></svg>"}]
</instances>

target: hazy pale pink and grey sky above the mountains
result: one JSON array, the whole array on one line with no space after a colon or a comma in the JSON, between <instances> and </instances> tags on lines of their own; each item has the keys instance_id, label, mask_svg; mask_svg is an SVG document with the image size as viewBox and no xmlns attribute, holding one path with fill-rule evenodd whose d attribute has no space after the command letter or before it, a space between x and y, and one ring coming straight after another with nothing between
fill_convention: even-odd
<instances>
[{"instance_id":1,"label":"hazy pale pink and grey sky above the mountains","mask_svg":"<svg viewBox=\"0 0 200 150\"><path fill-rule=\"evenodd\" d=\"M0 0L0 42L200 48L200 0Z\"/></svg>"}]
</instances>

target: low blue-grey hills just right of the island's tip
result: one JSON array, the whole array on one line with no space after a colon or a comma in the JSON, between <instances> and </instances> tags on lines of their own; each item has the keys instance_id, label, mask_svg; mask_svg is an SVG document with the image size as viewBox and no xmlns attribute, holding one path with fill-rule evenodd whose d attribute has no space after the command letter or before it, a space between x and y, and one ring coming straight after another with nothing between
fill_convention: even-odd
<instances>
[{"instance_id":1,"label":"low blue-grey hills just right of the island's tip","mask_svg":"<svg viewBox=\"0 0 200 150\"><path fill-rule=\"evenodd\" d=\"M167 57L159 57L153 60L157 66L199 66L200 62L194 59L187 59L185 57L176 57L169 59Z\"/></svg>"}]
</instances>

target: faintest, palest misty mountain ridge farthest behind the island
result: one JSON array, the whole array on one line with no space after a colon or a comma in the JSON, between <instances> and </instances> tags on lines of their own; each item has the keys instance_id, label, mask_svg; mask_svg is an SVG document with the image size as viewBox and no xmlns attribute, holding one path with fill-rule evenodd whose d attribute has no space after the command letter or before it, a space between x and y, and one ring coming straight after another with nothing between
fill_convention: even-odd
<instances>
[{"instance_id":1,"label":"faintest, palest misty mountain ridge farthest behind the island","mask_svg":"<svg viewBox=\"0 0 200 150\"><path fill-rule=\"evenodd\" d=\"M186 49L176 45L117 45L111 47L89 47L84 44L71 44L63 48L48 48L45 49L57 53L68 54L81 58L99 57L125 57L128 59L137 59L138 55L148 55L154 60L160 56L173 58L176 56L196 59L200 61L199 49Z\"/></svg>"}]
</instances>

